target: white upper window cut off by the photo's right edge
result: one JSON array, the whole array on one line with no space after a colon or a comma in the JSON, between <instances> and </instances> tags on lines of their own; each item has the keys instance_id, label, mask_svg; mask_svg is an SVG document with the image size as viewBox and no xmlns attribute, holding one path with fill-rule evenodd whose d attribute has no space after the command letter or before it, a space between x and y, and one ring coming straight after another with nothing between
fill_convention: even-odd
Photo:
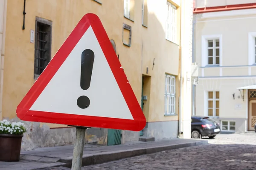
<instances>
[{"instance_id":1,"label":"white upper window cut off by the photo's right edge","mask_svg":"<svg viewBox=\"0 0 256 170\"><path fill-rule=\"evenodd\" d=\"M256 64L256 32L248 33L248 65Z\"/></svg>"}]
</instances>

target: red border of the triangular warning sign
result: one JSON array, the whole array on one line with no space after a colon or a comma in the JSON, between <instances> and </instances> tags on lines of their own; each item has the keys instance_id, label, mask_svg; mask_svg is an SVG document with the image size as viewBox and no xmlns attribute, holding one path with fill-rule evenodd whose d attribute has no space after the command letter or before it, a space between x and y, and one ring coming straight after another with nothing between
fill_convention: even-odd
<instances>
[{"instance_id":1,"label":"red border of the triangular warning sign","mask_svg":"<svg viewBox=\"0 0 256 170\"><path fill-rule=\"evenodd\" d=\"M111 71L116 79L117 84L124 96L124 99L131 111L134 120L129 119L115 119L98 116L83 116L66 113L50 113L41 111L29 111L38 96L42 93L49 81L58 71L58 68L63 64L70 52L79 42L81 37L89 27L93 28L94 34L99 41L103 53L110 65ZM114 57L113 57L114 56ZM32 88L28 91L26 96L17 106L17 116L24 121L31 122L45 122L63 125L85 126L85 127L99 127L119 130L140 131L145 127L146 119L141 110L139 102L128 83L125 72L119 62L118 57L113 49L113 46L108 38L108 35L96 14L85 14L79 21L77 26L73 29L67 40L63 43L61 48L57 51L55 56L51 59L43 73L35 81ZM121 114L121 113L120 113Z\"/></svg>"}]
</instances>

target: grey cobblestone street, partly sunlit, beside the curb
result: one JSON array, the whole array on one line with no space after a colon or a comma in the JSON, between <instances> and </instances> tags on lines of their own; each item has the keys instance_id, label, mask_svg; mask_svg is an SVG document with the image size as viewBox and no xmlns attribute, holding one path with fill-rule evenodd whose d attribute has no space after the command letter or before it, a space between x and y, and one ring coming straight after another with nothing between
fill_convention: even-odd
<instances>
[{"instance_id":1,"label":"grey cobblestone street, partly sunlit, beside the curb","mask_svg":"<svg viewBox=\"0 0 256 170\"><path fill-rule=\"evenodd\" d=\"M209 144L121 159L83 170L255 170L256 133L219 134Z\"/></svg>"}]
</instances>

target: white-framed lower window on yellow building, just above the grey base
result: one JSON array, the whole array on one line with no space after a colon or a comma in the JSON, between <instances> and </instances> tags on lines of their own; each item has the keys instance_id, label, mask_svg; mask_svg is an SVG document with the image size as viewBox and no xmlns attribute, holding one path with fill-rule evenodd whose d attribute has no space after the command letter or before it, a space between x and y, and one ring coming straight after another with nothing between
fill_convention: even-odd
<instances>
[{"instance_id":1,"label":"white-framed lower window on yellow building, just above the grey base","mask_svg":"<svg viewBox=\"0 0 256 170\"><path fill-rule=\"evenodd\" d=\"M168 83L168 79L170 79ZM175 114L175 103L176 103L176 78L175 76L166 74L165 75L165 92L164 92L164 100L165 100L165 115L174 115ZM169 89L169 93L168 93ZM167 98L169 97L169 103L167 102ZM169 107L169 112L167 112L167 108Z\"/></svg>"}]
</instances>

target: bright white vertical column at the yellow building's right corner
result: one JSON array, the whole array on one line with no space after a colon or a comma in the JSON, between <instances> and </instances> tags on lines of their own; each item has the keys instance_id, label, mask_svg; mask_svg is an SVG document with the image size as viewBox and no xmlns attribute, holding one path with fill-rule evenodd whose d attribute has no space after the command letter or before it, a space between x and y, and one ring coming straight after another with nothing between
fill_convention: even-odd
<instances>
[{"instance_id":1,"label":"bright white vertical column at the yellow building's right corner","mask_svg":"<svg viewBox=\"0 0 256 170\"><path fill-rule=\"evenodd\" d=\"M191 138L191 65L192 65L192 25L193 1L181 0L181 82L180 82L180 125L179 132L183 138Z\"/></svg>"}]
</instances>

